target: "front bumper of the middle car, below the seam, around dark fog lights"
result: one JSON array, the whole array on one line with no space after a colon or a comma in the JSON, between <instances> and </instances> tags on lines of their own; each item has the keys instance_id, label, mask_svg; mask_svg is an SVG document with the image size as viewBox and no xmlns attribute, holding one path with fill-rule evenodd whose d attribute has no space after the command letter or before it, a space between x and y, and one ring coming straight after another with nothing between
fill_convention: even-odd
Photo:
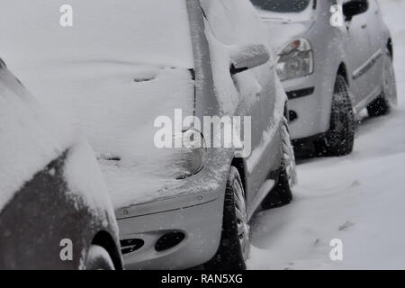
<instances>
[{"instance_id":1,"label":"front bumper of the middle car, below the seam, around dark fog lights","mask_svg":"<svg viewBox=\"0 0 405 288\"><path fill-rule=\"evenodd\" d=\"M195 202L199 202L198 196L195 197ZM146 205L153 206L156 202ZM159 205L166 206L165 203ZM192 206L118 220L121 241L140 239L144 242L139 249L123 255L125 267L184 269L202 265L215 255L219 247L222 212L223 195ZM172 233L180 233L184 239L174 247L157 250L159 239Z\"/></svg>"}]
</instances>

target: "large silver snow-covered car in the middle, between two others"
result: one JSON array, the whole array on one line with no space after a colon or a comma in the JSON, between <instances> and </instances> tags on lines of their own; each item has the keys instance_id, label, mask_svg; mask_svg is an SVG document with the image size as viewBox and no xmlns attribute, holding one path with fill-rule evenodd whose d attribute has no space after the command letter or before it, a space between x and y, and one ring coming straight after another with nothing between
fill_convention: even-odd
<instances>
[{"instance_id":1,"label":"large silver snow-covered car in the middle, between two others","mask_svg":"<svg viewBox=\"0 0 405 288\"><path fill-rule=\"evenodd\" d=\"M64 1L30 4L35 13L22 0L2 7L0 52L32 92L85 132L126 267L244 268L248 220L262 202L290 202L295 181L287 97L253 5L73 1L80 17L70 29L54 19ZM232 118L234 143L245 146L217 146L226 131L211 121ZM180 147L170 147L173 134ZM185 139L193 145L182 146Z\"/></svg>"}]
</instances>

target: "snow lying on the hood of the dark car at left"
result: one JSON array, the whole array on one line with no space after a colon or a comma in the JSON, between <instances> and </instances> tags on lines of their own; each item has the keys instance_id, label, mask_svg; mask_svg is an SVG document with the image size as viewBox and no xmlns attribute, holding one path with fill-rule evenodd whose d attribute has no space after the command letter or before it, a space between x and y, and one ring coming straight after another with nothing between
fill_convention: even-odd
<instances>
[{"instance_id":1,"label":"snow lying on the hood of the dark car at left","mask_svg":"<svg viewBox=\"0 0 405 288\"><path fill-rule=\"evenodd\" d=\"M0 68L0 211L25 182L72 145L76 133L49 116L5 68Z\"/></svg>"}]
</instances>

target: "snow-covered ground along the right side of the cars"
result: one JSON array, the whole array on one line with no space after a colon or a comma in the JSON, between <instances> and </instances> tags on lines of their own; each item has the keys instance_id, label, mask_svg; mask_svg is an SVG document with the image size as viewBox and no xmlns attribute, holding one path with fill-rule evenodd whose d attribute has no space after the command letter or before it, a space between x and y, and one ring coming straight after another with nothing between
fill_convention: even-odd
<instances>
[{"instance_id":1,"label":"snow-covered ground along the right side of the cars","mask_svg":"<svg viewBox=\"0 0 405 288\"><path fill-rule=\"evenodd\" d=\"M399 107L365 119L352 155L298 166L295 201L252 223L252 269L405 269L405 0L380 0L395 49ZM343 241L343 261L329 257Z\"/></svg>"}]
</instances>

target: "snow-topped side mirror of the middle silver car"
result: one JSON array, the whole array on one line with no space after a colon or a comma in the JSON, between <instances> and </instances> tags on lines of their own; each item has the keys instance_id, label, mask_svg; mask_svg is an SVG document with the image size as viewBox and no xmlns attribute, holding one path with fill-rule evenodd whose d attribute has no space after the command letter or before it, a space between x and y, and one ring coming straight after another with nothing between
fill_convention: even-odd
<instances>
[{"instance_id":1,"label":"snow-topped side mirror of the middle silver car","mask_svg":"<svg viewBox=\"0 0 405 288\"><path fill-rule=\"evenodd\" d=\"M231 75L262 66L270 59L270 52L263 44L237 46L230 54Z\"/></svg>"}]
</instances>

